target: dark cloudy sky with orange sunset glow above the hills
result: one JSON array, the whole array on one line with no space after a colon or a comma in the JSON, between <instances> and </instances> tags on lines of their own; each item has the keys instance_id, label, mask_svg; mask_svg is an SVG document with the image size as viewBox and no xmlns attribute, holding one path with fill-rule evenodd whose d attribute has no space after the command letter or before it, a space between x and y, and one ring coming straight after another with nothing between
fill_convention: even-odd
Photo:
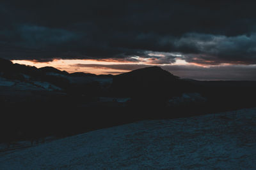
<instances>
[{"instance_id":1,"label":"dark cloudy sky with orange sunset glow above the hills","mask_svg":"<svg viewBox=\"0 0 256 170\"><path fill-rule=\"evenodd\" d=\"M0 2L0 57L68 72L161 66L182 78L256 80L253 1Z\"/></svg>"}]
</instances>

